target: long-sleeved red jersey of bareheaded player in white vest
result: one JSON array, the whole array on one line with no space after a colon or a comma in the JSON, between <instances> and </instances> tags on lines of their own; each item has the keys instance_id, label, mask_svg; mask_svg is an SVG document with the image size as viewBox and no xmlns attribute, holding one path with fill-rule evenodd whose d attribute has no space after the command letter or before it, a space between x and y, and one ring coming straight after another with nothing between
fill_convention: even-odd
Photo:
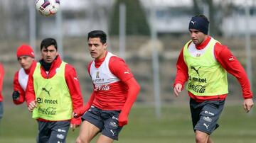
<instances>
[{"instance_id":1,"label":"long-sleeved red jersey of bareheaded player in white vest","mask_svg":"<svg viewBox=\"0 0 256 143\"><path fill-rule=\"evenodd\" d=\"M106 57L94 60L94 66L99 68L105 61L105 58ZM123 59L117 56L112 56L109 60L108 68L110 69L111 74L117 76L119 81L109 84L108 86L110 86L110 88L105 91L97 90L93 84L95 90L92 92L87 104L83 108L75 110L74 112L80 116L85 113L91 105L95 105L97 108L102 110L121 110L118 122L120 126L123 126L128 122L129 110L132 108L134 101L136 101L140 86L136 79L134 79L132 72ZM89 74L91 66L92 62L87 66Z\"/></svg>"}]
</instances>

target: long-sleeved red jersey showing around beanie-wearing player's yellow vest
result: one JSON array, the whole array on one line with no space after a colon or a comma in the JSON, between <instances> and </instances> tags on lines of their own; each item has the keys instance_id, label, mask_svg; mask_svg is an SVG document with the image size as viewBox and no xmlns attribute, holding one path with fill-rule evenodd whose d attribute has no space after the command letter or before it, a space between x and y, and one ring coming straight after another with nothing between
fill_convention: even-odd
<instances>
[{"instance_id":1,"label":"long-sleeved red jersey showing around beanie-wearing player's yellow vest","mask_svg":"<svg viewBox=\"0 0 256 143\"><path fill-rule=\"evenodd\" d=\"M208 42L210 41L210 36L201 43L201 45L196 45L196 49L202 50ZM235 76L238 79L240 86L242 88L243 98L252 98L252 91L250 90L250 82L247 78L245 69L242 67L238 59L230 52L227 46L216 43L214 46L215 59L220 63L220 65L228 71L228 73ZM183 59L183 49L178 56L176 63L176 79L174 81L174 86L176 84L181 84L184 87L185 82L188 80L188 67ZM198 102L206 100L224 100L228 94L216 95L216 96L196 96L188 91L188 95Z\"/></svg>"}]
</instances>

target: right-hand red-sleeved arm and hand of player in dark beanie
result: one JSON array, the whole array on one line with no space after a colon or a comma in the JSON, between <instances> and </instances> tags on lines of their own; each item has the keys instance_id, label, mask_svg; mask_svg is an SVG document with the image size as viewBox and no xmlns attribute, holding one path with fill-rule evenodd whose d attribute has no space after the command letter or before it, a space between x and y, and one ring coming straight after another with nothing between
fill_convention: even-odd
<instances>
[{"instance_id":1,"label":"right-hand red-sleeved arm and hand of player in dark beanie","mask_svg":"<svg viewBox=\"0 0 256 143\"><path fill-rule=\"evenodd\" d=\"M244 98L243 107L246 112L249 112L253 106L253 101L250 81L247 78L245 69L226 46L218 44L215 45L215 57L221 66L228 71L228 73L232 74L236 79L238 79L242 88L242 96Z\"/></svg>"}]
</instances>

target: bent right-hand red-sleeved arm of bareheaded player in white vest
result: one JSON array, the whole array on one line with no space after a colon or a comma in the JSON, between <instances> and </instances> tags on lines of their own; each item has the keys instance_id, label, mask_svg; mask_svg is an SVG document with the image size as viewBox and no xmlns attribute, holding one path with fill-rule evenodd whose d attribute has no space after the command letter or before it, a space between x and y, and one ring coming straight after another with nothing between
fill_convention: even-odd
<instances>
[{"instance_id":1,"label":"bent right-hand red-sleeved arm of bareheaded player in white vest","mask_svg":"<svg viewBox=\"0 0 256 143\"><path fill-rule=\"evenodd\" d=\"M128 87L127 100L125 101L124 107L122 108L118 118L119 126L124 126L128 123L129 111L137 99L140 86L123 59L120 59L119 57L112 57L112 59L110 59L110 71L112 71L112 74L117 76L117 78L124 82Z\"/></svg>"}]
</instances>

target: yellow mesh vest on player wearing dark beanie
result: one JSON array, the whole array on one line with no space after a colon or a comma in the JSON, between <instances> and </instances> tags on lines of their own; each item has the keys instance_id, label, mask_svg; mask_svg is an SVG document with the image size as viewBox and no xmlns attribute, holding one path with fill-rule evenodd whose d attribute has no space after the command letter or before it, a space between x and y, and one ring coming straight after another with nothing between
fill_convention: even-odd
<instances>
[{"instance_id":1,"label":"yellow mesh vest on player wearing dark beanie","mask_svg":"<svg viewBox=\"0 0 256 143\"><path fill-rule=\"evenodd\" d=\"M193 57L188 51L187 42L183 48L183 57L188 66L188 83L186 89L196 96L217 96L228 93L227 71L214 57L216 40L211 38L206 51ZM191 43L193 46L193 42Z\"/></svg>"}]
</instances>

